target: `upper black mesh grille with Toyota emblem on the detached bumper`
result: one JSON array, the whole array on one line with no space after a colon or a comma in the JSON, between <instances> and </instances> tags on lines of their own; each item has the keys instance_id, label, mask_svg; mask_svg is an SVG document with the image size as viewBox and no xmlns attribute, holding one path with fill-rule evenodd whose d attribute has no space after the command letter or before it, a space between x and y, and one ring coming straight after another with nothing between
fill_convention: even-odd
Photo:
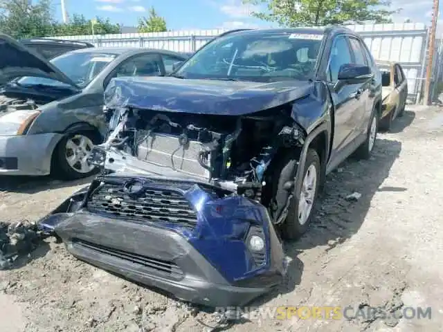
<instances>
[{"instance_id":1,"label":"upper black mesh grille with Toyota emblem on the detached bumper","mask_svg":"<svg viewBox=\"0 0 443 332\"><path fill-rule=\"evenodd\" d=\"M197 225L197 213L183 195L173 189L147 187L138 198L123 191L123 185L105 183L87 201L89 212L133 221L170 223L190 230Z\"/></svg>"}]
</instances>

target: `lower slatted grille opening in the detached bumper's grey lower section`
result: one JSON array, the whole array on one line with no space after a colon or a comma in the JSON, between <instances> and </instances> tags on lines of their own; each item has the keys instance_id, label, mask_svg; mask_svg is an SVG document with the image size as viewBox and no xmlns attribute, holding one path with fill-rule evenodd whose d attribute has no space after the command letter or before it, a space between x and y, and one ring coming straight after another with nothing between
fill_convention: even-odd
<instances>
[{"instance_id":1,"label":"lower slatted grille opening in the detached bumper's grey lower section","mask_svg":"<svg viewBox=\"0 0 443 332\"><path fill-rule=\"evenodd\" d=\"M172 261L165 261L163 259L156 259L153 257L134 254L132 252L100 246L99 244L80 239L73 239L73 246L93 250L103 255L124 259L125 261L130 261L138 266L143 266L144 268L148 268L156 273L168 275L174 279L181 279L184 275L181 268L179 268L177 264L172 263Z\"/></svg>"}]
</instances>

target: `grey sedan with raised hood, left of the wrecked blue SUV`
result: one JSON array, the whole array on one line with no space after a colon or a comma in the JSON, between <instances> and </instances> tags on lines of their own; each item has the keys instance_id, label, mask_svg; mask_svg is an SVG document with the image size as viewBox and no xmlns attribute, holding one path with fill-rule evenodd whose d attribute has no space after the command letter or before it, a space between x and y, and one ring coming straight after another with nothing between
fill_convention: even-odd
<instances>
[{"instance_id":1,"label":"grey sedan with raised hood, left of the wrecked blue SUV","mask_svg":"<svg viewBox=\"0 0 443 332\"><path fill-rule=\"evenodd\" d=\"M120 76L169 73L179 53L144 48L82 48L48 62L0 36L0 175L65 178L94 172L87 158L107 124L103 91ZM172 65L171 65L172 66Z\"/></svg>"}]
</instances>

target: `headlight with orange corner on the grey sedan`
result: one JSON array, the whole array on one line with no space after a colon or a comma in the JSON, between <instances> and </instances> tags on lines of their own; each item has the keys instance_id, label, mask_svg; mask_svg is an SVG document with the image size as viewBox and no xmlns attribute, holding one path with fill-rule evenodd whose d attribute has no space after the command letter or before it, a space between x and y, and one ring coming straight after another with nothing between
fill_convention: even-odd
<instances>
[{"instance_id":1,"label":"headlight with orange corner on the grey sedan","mask_svg":"<svg viewBox=\"0 0 443 332\"><path fill-rule=\"evenodd\" d=\"M13 111L0 116L0 135L16 136L25 135L35 118L41 112L37 110Z\"/></svg>"}]
</instances>

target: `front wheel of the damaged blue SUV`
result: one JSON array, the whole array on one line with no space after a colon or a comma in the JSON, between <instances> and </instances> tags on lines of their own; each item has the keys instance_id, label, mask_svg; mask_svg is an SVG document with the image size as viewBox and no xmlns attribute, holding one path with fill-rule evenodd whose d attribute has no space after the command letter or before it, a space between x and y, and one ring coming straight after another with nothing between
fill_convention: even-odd
<instances>
[{"instance_id":1,"label":"front wheel of the damaged blue SUV","mask_svg":"<svg viewBox=\"0 0 443 332\"><path fill-rule=\"evenodd\" d=\"M284 171L284 169L283 169ZM284 172L282 172L282 175ZM295 175L295 174L294 174ZM304 234L311 223L314 205L318 196L320 185L320 158L314 149L308 149L305 168L301 174L302 185L289 203L286 219L280 225L280 234L283 239L295 240ZM279 187L284 185L282 178L278 179ZM284 190L282 188L281 190ZM296 197L299 199L296 199Z\"/></svg>"}]
</instances>

